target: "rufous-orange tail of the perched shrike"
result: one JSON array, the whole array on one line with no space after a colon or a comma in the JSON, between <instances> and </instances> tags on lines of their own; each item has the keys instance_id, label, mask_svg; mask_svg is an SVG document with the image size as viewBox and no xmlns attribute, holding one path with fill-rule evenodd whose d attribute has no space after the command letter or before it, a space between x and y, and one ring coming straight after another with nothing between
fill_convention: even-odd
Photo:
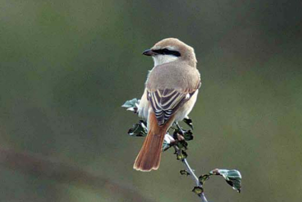
<instances>
[{"instance_id":1,"label":"rufous-orange tail of the perched shrike","mask_svg":"<svg viewBox=\"0 0 302 202\"><path fill-rule=\"evenodd\" d=\"M149 114L148 135L143 143L140 153L134 162L133 168L135 170L151 171L158 169L163 140L173 121L174 117L170 117L170 119L164 125L159 126L157 124L155 114Z\"/></svg>"}]
</instances>

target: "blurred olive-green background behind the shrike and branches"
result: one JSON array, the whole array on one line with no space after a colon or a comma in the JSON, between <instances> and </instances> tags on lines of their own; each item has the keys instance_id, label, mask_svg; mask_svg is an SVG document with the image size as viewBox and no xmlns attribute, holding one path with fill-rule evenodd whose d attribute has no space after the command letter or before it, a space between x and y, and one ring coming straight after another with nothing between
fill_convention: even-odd
<instances>
[{"instance_id":1,"label":"blurred olive-green background behind the shrike and branches","mask_svg":"<svg viewBox=\"0 0 302 202\"><path fill-rule=\"evenodd\" d=\"M143 138L120 106L140 97L166 37L192 45L203 85L190 117L197 174L238 169L240 194L219 177L210 201L302 198L300 1L0 1L0 146L71 162L154 201L198 201L172 150L158 171L132 166ZM1 158L0 158L1 159ZM55 168L53 168L55 169ZM0 201L132 201L0 163Z\"/></svg>"}]
</instances>

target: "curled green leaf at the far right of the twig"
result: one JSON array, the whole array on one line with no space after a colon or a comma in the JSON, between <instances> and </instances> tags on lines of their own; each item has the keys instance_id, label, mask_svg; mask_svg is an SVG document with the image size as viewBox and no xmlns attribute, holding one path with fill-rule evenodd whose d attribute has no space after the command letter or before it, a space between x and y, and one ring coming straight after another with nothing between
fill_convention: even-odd
<instances>
[{"instance_id":1,"label":"curled green leaf at the far right of the twig","mask_svg":"<svg viewBox=\"0 0 302 202\"><path fill-rule=\"evenodd\" d=\"M221 175L226 183L240 193L241 189L241 174L237 170L215 169L210 172L211 175Z\"/></svg>"}]
</instances>

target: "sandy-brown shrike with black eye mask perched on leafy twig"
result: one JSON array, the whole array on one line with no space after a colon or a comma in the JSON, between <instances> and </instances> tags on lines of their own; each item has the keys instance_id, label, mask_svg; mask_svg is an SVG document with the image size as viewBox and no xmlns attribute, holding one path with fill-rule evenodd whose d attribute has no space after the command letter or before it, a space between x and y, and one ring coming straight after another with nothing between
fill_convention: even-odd
<instances>
[{"instance_id":1,"label":"sandy-brown shrike with black eye mask perched on leafy twig","mask_svg":"<svg viewBox=\"0 0 302 202\"><path fill-rule=\"evenodd\" d=\"M170 126L193 109L201 81L193 47L176 38L157 42L143 55L152 56L154 61L138 107L139 116L147 120L148 135L133 168L151 171L159 167L161 147Z\"/></svg>"}]
</instances>

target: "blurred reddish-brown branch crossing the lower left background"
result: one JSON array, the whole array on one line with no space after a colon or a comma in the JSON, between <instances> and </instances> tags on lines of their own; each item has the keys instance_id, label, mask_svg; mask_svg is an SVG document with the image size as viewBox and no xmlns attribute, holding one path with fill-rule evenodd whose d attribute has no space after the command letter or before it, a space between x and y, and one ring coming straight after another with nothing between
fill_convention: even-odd
<instances>
[{"instance_id":1,"label":"blurred reddish-brown branch crossing the lower left background","mask_svg":"<svg viewBox=\"0 0 302 202\"><path fill-rule=\"evenodd\" d=\"M122 185L111 179L87 172L75 165L50 160L43 156L17 152L0 146L0 166L26 175L55 180L64 184L77 184L91 189L105 189L113 196L122 195L129 201L154 202L140 194L134 187Z\"/></svg>"}]
</instances>

